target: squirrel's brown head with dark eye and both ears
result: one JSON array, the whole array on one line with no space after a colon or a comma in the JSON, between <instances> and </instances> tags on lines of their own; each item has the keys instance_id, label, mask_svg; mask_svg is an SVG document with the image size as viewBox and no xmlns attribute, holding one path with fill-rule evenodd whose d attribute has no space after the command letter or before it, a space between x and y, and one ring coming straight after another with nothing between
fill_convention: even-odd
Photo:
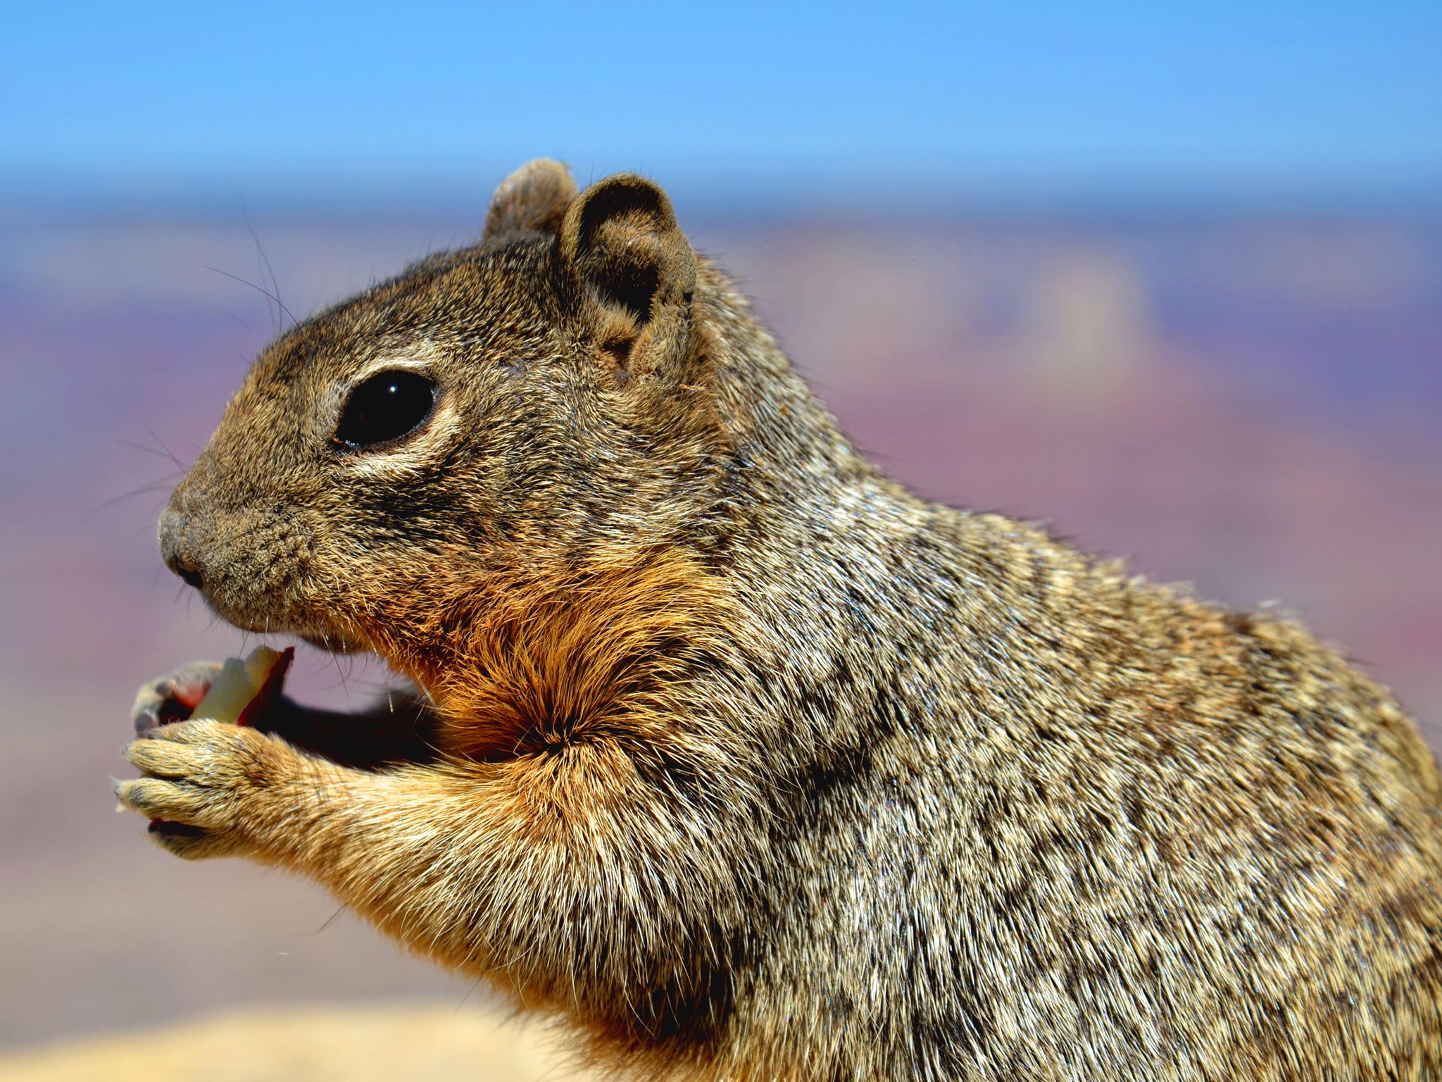
<instances>
[{"instance_id":1,"label":"squirrel's brown head with dark eye and both ears","mask_svg":"<svg viewBox=\"0 0 1442 1082\"><path fill-rule=\"evenodd\" d=\"M675 544L730 446L705 277L653 183L578 193L532 162L480 244L261 353L160 519L166 563L239 626L355 648L401 600L444 620L495 576Z\"/></svg>"}]
</instances>

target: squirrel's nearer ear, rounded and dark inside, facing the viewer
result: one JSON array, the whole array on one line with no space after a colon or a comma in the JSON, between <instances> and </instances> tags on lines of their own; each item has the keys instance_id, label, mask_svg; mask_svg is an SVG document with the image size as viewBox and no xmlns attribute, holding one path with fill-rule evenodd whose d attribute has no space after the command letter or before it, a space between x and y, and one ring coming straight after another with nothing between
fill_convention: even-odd
<instances>
[{"instance_id":1,"label":"squirrel's nearer ear, rounded and dark inside, facing the viewer","mask_svg":"<svg viewBox=\"0 0 1442 1082\"><path fill-rule=\"evenodd\" d=\"M558 255L603 304L626 309L639 325L688 306L696 287L696 257L671 201L633 173L594 183L571 202Z\"/></svg>"}]
</instances>

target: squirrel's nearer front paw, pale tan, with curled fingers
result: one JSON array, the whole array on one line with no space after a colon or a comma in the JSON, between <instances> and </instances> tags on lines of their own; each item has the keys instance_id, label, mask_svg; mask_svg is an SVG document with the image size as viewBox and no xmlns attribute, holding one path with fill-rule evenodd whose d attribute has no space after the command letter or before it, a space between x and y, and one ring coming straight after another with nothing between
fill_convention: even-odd
<instances>
[{"instance_id":1,"label":"squirrel's nearer front paw, pale tan, with curled fingers","mask_svg":"<svg viewBox=\"0 0 1442 1082\"><path fill-rule=\"evenodd\" d=\"M115 782L115 796L150 819L150 837L187 860L262 848L262 804L297 757L254 729L209 720L160 726L123 755L146 776Z\"/></svg>"}]
</instances>

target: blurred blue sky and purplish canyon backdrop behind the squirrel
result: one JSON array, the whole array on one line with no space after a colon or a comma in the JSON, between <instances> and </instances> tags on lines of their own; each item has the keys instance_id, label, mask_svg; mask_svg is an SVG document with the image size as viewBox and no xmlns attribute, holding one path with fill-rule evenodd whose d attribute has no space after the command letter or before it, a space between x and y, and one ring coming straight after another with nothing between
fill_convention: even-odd
<instances>
[{"instance_id":1,"label":"blurred blue sky and purplish canyon backdrop behind the squirrel","mask_svg":"<svg viewBox=\"0 0 1442 1082\"><path fill-rule=\"evenodd\" d=\"M268 260L303 316L473 239L531 156L668 186L895 476L1279 600L1442 746L1442 17L1043 7L17 14L0 1044L254 1000L485 1000L310 884L164 856L105 779L143 679L247 645L154 544L277 326L245 281ZM384 679L301 648L293 687L343 705Z\"/></svg>"}]
</instances>

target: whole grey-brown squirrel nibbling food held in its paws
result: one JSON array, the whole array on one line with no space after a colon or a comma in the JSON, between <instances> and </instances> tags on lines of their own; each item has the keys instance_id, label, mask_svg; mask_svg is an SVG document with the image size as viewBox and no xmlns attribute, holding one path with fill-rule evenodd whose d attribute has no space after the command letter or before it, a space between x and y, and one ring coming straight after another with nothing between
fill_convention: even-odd
<instances>
[{"instance_id":1,"label":"whole grey-brown squirrel nibbling food held in its paws","mask_svg":"<svg viewBox=\"0 0 1442 1082\"><path fill-rule=\"evenodd\" d=\"M867 462L634 175L280 335L160 521L348 717L117 783L643 1079L1442 1078L1436 762L1299 625Z\"/></svg>"}]
</instances>

